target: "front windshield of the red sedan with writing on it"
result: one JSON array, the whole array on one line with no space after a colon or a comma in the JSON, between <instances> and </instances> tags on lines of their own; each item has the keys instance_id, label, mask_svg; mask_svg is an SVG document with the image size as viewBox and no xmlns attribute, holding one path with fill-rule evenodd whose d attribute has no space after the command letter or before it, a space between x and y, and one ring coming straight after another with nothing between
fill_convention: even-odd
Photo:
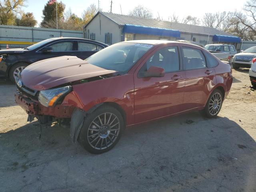
<instances>
[{"instance_id":1,"label":"front windshield of the red sedan with writing on it","mask_svg":"<svg viewBox=\"0 0 256 192\"><path fill-rule=\"evenodd\" d=\"M152 46L140 43L117 43L93 54L86 61L125 74Z\"/></svg>"}]
</instances>

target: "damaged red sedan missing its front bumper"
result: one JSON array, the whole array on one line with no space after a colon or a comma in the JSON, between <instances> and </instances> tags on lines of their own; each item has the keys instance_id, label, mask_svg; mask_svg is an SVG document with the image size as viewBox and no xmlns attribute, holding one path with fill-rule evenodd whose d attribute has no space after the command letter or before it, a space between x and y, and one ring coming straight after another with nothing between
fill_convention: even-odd
<instances>
[{"instance_id":1,"label":"damaged red sedan missing its front bumper","mask_svg":"<svg viewBox=\"0 0 256 192\"><path fill-rule=\"evenodd\" d=\"M232 85L229 64L182 42L121 42L81 60L62 56L26 67L16 102L28 119L70 123L70 136L91 153L116 145L126 126L203 110L220 112Z\"/></svg>"}]
</instances>

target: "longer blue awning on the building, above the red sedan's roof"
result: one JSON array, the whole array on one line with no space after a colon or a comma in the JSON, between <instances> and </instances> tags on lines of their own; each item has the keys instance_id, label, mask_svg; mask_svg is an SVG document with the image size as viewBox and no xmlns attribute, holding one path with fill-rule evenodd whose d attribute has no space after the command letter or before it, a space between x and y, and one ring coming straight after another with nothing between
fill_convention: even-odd
<instances>
[{"instance_id":1,"label":"longer blue awning on the building, above the red sedan's roof","mask_svg":"<svg viewBox=\"0 0 256 192\"><path fill-rule=\"evenodd\" d=\"M178 30L146 27L146 26L138 26L138 25L128 25L128 24L124 25L124 33L180 37L180 31Z\"/></svg>"}]
</instances>

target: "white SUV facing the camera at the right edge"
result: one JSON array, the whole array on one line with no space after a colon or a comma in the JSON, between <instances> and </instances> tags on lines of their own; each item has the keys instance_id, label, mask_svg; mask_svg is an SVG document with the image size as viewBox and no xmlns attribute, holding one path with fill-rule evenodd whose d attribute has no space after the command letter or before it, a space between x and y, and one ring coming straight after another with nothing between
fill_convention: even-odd
<instances>
[{"instance_id":1,"label":"white SUV facing the camera at the right edge","mask_svg":"<svg viewBox=\"0 0 256 192\"><path fill-rule=\"evenodd\" d=\"M251 68L253 58L256 58L256 46L250 47L242 53L235 54L232 60L233 68Z\"/></svg>"}]
</instances>

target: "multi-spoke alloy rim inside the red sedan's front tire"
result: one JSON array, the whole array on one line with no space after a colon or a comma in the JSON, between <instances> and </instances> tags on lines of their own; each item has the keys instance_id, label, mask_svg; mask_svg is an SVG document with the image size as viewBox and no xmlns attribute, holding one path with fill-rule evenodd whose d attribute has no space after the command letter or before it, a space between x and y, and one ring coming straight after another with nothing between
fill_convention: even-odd
<instances>
[{"instance_id":1,"label":"multi-spoke alloy rim inside the red sedan's front tire","mask_svg":"<svg viewBox=\"0 0 256 192\"><path fill-rule=\"evenodd\" d=\"M120 133L120 121L113 113L102 113L91 122L87 131L87 140L94 149L110 147Z\"/></svg>"}]
</instances>

